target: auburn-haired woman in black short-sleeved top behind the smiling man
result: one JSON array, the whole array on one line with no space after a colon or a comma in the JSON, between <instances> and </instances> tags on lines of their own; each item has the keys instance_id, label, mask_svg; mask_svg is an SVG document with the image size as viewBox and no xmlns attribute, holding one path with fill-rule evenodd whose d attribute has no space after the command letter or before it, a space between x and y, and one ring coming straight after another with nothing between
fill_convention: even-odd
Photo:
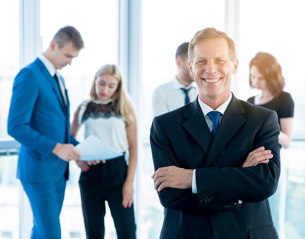
<instances>
[{"instance_id":1,"label":"auburn-haired woman in black short-sleeved top behind the smiling man","mask_svg":"<svg viewBox=\"0 0 305 239\"><path fill-rule=\"evenodd\" d=\"M260 94L248 98L248 102L278 114L280 125L279 142L283 148L291 143L294 102L291 95L284 91L285 79L282 68L273 55L257 53L249 64L249 83ZM282 149L283 150L283 149ZM281 152L282 152L281 150ZM281 153L281 176L277 191L269 198L272 219L280 239L285 239L286 168Z\"/></svg>"}]
</instances>

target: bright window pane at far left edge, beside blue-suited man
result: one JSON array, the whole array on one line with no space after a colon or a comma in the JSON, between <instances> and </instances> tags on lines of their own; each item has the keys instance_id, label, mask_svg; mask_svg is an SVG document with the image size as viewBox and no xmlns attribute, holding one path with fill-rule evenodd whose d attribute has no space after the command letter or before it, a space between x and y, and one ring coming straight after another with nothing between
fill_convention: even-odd
<instances>
[{"instance_id":1,"label":"bright window pane at far left edge, beside blue-suited man","mask_svg":"<svg viewBox=\"0 0 305 239\"><path fill-rule=\"evenodd\" d=\"M9 155L7 116L19 71L19 0L0 1L0 238L19 238L17 155ZM15 154L15 153L14 153Z\"/></svg>"}]
</instances>

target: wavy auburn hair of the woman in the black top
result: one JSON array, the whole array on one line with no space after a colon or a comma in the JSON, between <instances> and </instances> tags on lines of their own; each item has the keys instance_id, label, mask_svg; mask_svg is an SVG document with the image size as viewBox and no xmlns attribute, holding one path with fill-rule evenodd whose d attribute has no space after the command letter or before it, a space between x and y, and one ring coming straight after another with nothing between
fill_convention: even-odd
<instances>
[{"instance_id":1,"label":"wavy auburn hair of the woman in the black top","mask_svg":"<svg viewBox=\"0 0 305 239\"><path fill-rule=\"evenodd\" d=\"M283 92L285 79L282 75L282 67L273 55L267 52L259 52L250 61L249 69L251 66L256 66L258 72L263 75L268 90L275 97L278 97ZM250 75L249 83L251 86Z\"/></svg>"}]
</instances>

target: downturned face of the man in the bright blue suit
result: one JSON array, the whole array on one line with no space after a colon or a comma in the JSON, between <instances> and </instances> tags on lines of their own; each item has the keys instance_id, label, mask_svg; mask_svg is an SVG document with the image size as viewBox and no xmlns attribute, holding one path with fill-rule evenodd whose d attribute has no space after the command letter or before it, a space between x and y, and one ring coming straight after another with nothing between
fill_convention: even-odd
<instances>
[{"instance_id":1,"label":"downturned face of the man in the bright blue suit","mask_svg":"<svg viewBox=\"0 0 305 239\"><path fill-rule=\"evenodd\" d=\"M72 59L75 58L79 49L76 49L73 42L66 43L61 49L59 49L57 42L52 47L52 63L56 69L61 70L66 65L71 65Z\"/></svg>"}]
</instances>

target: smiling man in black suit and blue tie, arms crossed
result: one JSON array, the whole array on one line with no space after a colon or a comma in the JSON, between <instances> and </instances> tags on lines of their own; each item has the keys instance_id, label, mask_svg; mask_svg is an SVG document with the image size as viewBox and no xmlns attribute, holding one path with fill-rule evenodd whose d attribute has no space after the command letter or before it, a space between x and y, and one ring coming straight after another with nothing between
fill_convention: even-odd
<instances>
[{"instance_id":1,"label":"smiling man in black suit and blue tie, arms crossed","mask_svg":"<svg viewBox=\"0 0 305 239\"><path fill-rule=\"evenodd\" d=\"M277 114L230 91L238 60L226 33L198 31L188 52L198 98L151 128L160 239L277 239L267 200L280 176Z\"/></svg>"}]
</instances>

